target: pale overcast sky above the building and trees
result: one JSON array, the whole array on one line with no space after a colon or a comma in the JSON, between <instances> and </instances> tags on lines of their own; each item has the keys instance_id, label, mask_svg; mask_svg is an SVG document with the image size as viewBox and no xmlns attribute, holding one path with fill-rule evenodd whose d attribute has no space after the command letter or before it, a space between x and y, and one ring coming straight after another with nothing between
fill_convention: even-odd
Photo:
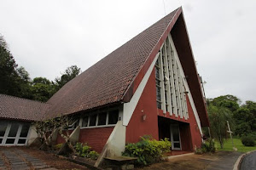
<instances>
[{"instance_id":1,"label":"pale overcast sky above the building and trees","mask_svg":"<svg viewBox=\"0 0 256 170\"><path fill-rule=\"evenodd\" d=\"M207 98L256 101L255 0L1 0L0 33L32 78L85 71L183 6Z\"/></svg>"}]
</instances>

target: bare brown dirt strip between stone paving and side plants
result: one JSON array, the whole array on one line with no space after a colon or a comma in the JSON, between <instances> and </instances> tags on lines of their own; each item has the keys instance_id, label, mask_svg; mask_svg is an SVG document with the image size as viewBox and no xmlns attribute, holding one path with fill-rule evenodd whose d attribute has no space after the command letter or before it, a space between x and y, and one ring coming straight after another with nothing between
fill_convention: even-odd
<instances>
[{"instance_id":1,"label":"bare brown dirt strip between stone paving and side plants","mask_svg":"<svg viewBox=\"0 0 256 170\"><path fill-rule=\"evenodd\" d=\"M55 156L54 154L45 152L43 150L35 150L31 148L26 147L19 147L20 150L25 151L26 153L30 154L31 156L34 156L49 165L50 167L55 167L57 169L80 169L80 170L89 170L89 168L80 166L76 163L73 163L71 161L67 161L64 159L61 159L58 156Z\"/></svg>"}]
</instances>

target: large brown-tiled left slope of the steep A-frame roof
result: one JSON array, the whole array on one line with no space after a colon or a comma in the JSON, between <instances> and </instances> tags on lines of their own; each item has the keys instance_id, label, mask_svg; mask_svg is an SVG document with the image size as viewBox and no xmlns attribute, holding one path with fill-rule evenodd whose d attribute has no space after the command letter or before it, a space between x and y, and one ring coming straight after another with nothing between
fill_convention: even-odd
<instances>
[{"instance_id":1,"label":"large brown-tiled left slope of the steep A-frame roof","mask_svg":"<svg viewBox=\"0 0 256 170\"><path fill-rule=\"evenodd\" d=\"M179 10L181 8L67 82L47 102L51 104L49 115L70 114L121 101Z\"/></svg>"}]
</instances>

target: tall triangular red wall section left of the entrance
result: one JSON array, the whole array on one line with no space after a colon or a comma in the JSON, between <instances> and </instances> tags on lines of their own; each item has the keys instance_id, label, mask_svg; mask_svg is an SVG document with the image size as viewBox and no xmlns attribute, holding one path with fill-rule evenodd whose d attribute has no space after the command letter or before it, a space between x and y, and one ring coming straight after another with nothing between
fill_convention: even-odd
<instances>
[{"instance_id":1,"label":"tall triangular red wall section left of the entrance","mask_svg":"<svg viewBox=\"0 0 256 170\"><path fill-rule=\"evenodd\" d=\"M148 78L148 82L136 109L131 116L131 120L126 127L126 143L137 142L144 134L152 135L154 139L159 138L155 99L156 93L153 70ZM145 121L143 121L144 114L146 115Z\"/></svg>"}]
</instances>

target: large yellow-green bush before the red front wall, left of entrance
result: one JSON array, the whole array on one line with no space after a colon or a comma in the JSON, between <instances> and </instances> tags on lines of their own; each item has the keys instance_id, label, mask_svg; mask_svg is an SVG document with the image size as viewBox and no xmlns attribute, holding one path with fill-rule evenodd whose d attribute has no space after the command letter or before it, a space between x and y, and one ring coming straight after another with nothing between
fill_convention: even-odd
<instances>
[{"instance_id":1,"label":"large yellow-green bush before the red front wall, left of entrance","mask_svg":"<svg viewBox=\"0 0 256 170\"><path fill-rule=\"evenodd\" d=\"M157 141L142 137L136 144L126 144L123 156L137 157L138 164L148 165L160 161L170 149L171 142L168 139Z\"/></svg>"}]
</instances>

